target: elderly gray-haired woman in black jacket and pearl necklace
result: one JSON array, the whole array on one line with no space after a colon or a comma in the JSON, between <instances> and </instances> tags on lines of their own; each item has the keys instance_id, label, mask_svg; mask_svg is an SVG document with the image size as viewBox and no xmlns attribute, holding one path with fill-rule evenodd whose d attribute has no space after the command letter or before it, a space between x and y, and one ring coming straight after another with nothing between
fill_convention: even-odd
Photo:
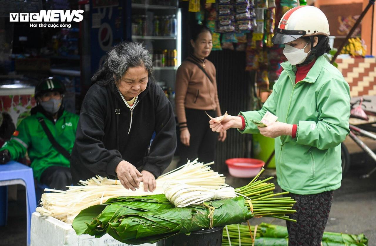
<instances>
[{"instance_id":1,"label":"elderly gray-haired woman in black jacket and pearl necklace","mask_svg":"<svg viewBox=\"0 0 376 246\"><path fill-rule=\"evenodd\" d=\"M74 182L117 176L126 189L140 182L145 191L155 189L173 157L176 131L171 104L152 75L141 44L122 42L108 52L83 100L72 150Z\"/></svg>"}]
</instances>

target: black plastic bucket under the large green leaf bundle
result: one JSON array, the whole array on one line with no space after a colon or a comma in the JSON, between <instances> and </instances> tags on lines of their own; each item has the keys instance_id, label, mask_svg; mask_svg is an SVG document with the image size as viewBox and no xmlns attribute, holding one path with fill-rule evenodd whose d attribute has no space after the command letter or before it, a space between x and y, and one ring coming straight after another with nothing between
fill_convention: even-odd
<instances>
[{"instance_id":1,"label":"black plastic bucket under the large green leaf bundle","mask_svg":"<svg viewBox=\"0 0 376 246\"><path fill-rule=\"evenodd\" d=\"M161 240L158 246L221 246L223 227L194 231L190 236L178 234Z\"/></svg>"}]
</instances>

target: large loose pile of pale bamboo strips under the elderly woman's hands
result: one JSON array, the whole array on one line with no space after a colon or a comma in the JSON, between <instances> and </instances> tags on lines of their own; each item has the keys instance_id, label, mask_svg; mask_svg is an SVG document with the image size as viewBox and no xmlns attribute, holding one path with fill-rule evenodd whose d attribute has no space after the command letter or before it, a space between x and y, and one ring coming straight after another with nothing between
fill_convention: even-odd
<instances>
[{"instance_id":1,"label":"large loose pile of pale bamboo strips under the elderly woman's hands","mask_svg":"<svg viewBox=\"0 0 376 246\"><path fill-rule=\"evenodd\" d=\"M119 180L96 176L86 181L80 180L82 186L68 186L67 191L45 189L50 193L43 193L41 207L36 211L42 215L52 216L68 224L73 222L77 214L92 205L102 204L109 198L118 196L141 196L163 194L166 182L185 183L206 189L220 189L227 187L223 174L214 172L211 163L197 162L197 159L174 169L156 179L157 187L153 193L144 192L143 183L135 191L125 189Z\"/></svg>"}]
</instances>

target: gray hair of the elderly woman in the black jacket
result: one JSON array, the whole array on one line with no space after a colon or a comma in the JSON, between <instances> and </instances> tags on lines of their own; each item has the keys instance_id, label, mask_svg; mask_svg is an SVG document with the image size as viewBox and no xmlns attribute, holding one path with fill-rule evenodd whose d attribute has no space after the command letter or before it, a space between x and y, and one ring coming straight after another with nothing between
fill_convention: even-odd
<instances>
[{"instance_id":1,"label":"gray hair of the elderly woman in the black jacket","mask_svg":"<svg viewBox=\"0 0 376 246\"><path fill-rule=\"evenodd\" d=\"M138 66L144 66L149 73L149 77L153 78L153 62L147 49L138 42L121 42L108 52L105 63L94 74L92 81L95 80L93 82L96 82L106 77L119 86L118 82L127 69Z\"/></svg>"}]
</instances>

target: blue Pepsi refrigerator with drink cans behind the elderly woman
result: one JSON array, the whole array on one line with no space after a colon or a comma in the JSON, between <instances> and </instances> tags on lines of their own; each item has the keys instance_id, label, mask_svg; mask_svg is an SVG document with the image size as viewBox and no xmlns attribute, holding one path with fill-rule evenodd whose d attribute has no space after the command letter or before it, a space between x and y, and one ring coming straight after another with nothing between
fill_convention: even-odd
<instances>
[{"instance_id":1,"label":"blue Pepsi refrigerator with drink cans behind the elderly woman","mask_svg":"<svg viewBox=\"0 0 376 246\"><path fill-rule=\"evenodd\" d=\"M176 69L181 63L181 10L178 0L82 0L82 96L107 52L125 40L143 43L155 69L155 82L173 102Z\"/></svg>"}]
</instances>

